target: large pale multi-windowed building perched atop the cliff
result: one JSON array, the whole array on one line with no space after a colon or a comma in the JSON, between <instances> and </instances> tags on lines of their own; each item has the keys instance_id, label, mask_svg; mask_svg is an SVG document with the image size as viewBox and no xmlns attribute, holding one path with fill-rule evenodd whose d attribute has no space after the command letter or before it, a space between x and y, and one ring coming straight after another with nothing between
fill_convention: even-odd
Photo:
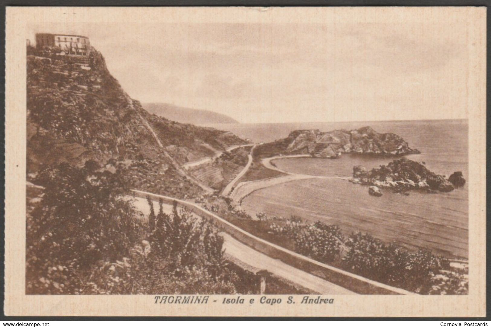
<instances>
[{"instance_id":1,"label":"large pale multi-windowed building perched atop the cliff","mask_svg":"<svg viewBox=\"0 0 491 327\"><path fill-rule=\"evenodd\" d=\"M68 55L88 56L90 54L89 38L82 35L37 33L36 47L56 47Z\"/></svg>"}]
</instances>

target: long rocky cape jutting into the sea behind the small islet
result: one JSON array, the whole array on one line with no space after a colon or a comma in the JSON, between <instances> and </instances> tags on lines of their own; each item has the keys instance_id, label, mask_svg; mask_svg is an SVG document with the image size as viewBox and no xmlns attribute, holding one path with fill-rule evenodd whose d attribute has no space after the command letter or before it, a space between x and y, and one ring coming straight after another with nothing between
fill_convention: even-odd
<instances>
[{"instance_id":1,"label":"long rocky cape jutting into the sea behind the small islet","mask_svg":"<svg viewBox=\"0 0 491 327\"><path fill-rule=\"evenodd\" d=\"M395 156L419 153L411 149L401 136L393 133L377 133L371 127L357 130L293 131L286 138L263 144L258 153L308 154L313 157L337 158L343 153Z\"/></svg>"}]
</instances>

